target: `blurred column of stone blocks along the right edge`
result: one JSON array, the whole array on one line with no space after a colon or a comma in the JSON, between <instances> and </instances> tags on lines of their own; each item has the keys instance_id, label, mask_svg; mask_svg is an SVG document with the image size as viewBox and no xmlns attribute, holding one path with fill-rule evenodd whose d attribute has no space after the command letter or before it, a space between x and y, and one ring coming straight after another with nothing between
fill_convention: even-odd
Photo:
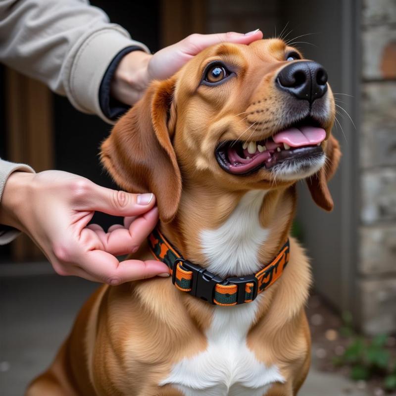
<instances>
[{"instance_id":1,"label":"blurred column of stone blocks along the right edge","mask_svg":"<svg viewBox=\"0 0 396 396\"><path fill-rule=\"evenodd\" d=\"M396 331L396 1L362 1L359 289L363 330Z\"/></svg>"}]
</instances>

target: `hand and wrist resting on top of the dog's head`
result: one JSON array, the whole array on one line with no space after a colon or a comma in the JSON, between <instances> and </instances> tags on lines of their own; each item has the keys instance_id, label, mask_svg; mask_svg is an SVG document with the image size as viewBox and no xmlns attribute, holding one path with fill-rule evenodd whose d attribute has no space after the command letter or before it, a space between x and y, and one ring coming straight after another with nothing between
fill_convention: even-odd
<instances>
[{"instance_id":1,"label":"hand and wrist resting on top of the dog's head","mask_svg":"<svg viewBox=\"0 0 396 396\"><path fill-rule=\"evenodd\" d=\"M111 95L132 105L143 96L150 81L172 76L202 49L222 42L249 44L262 37L263 34L258 29L246 34L192 34L153 55L143 51L129 52L121 59L114 73Z\"/></svg>"}]
</instances>

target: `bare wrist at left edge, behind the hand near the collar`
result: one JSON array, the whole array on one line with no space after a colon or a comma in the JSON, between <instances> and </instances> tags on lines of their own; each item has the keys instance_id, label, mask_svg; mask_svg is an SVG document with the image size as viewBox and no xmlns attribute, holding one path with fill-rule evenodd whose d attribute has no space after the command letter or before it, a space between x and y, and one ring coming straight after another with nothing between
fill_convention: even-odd
<instances>
[{"instance_id":1,"label":"bare wrist at left edge, behind the hand near the collar","mask_svg":"<svg viewBox=\"0 0 396 396\"><path fill-rule=\"evenodd\" d=\"M31 197L34 177L34 173L18 171L8 176L0 202L0 224L24 231L21 212Z\"/></svg>"}]
</instances>

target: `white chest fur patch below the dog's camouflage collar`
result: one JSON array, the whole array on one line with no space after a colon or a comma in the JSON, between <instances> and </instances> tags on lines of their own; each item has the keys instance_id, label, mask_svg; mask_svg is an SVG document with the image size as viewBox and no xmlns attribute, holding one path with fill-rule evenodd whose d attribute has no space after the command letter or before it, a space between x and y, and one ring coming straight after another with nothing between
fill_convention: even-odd
<instances>
[{"instance_id":1,"label":"white chest fur patch below the dog's camouflage collar","mask_svg":"<svg viewBox=\"0 0 396 396\"><path fill-rule=\"evenodd\" d=\"M177 363L160 385L171 384L185 396L263 396L272 383L283 382L277 367L259 362L246 344L261 298L215 307L205 351Z\"/></svg>"}]
</instances>

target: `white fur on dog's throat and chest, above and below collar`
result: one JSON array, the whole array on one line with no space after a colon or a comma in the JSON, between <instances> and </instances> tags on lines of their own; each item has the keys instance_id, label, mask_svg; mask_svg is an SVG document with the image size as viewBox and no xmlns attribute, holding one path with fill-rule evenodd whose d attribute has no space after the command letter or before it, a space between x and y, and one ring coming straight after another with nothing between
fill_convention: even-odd
<instances>
[{"instance_id":1,"label":"white fur on dog's throat and chest, above and below collar","mask_svg":"<svg viewBox=\"0 0 396 396\"><path fill-rule=\"evenodd\" d=\"M258 220L264 195L264 191L248 192L218 229L201 233L209 271L224 277L259 270L258 248L268 235ZM263 396L272 383L283 382L276 366L265 366L247 347L261 298L265 296L248 304L216 306L206 331L207 348L175 364L160 385L172 384L185 396Z\"/></svg>"}]
</instances>

